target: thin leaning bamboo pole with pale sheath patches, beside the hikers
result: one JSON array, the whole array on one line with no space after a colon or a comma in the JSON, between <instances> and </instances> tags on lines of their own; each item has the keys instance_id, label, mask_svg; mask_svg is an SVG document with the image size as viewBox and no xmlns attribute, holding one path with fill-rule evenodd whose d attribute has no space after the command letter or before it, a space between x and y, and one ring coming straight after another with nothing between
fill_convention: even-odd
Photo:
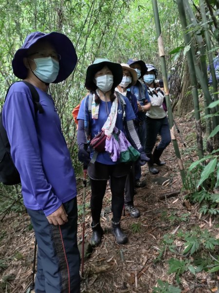
<instances>
[{"instance_id":1,"label":"thin leaning bamboo pole with pale sheath patches, beside the hikers","mask_svg":"<svg viewBox=\"0 0 219 293\"><path fill-rule=\"evenodd\" d=\"M175 133L174 122L173 122L173 113L172 113L172 108L171 108L170 98L169 98L169 87L168 87L167 69L166 69L166 62L165 62L164 43L163 43L163 37L161 32L161 23L159 18L157 0L152 0L152 6L153 6L156 32L157 32L157 38L158 38L158 47L159 47L160 60L161 60L162 76L164 80L165 97L166 97L166 104L167 104L167 110L168 110L168 120L169 120L171 138L172 138L176 156L178 158L178 166L180 169L181 178L184 183L185 171L183 167L183 160L181 159L180 149L176 140L176 133Z\"/></svg>"}]
</instances>

